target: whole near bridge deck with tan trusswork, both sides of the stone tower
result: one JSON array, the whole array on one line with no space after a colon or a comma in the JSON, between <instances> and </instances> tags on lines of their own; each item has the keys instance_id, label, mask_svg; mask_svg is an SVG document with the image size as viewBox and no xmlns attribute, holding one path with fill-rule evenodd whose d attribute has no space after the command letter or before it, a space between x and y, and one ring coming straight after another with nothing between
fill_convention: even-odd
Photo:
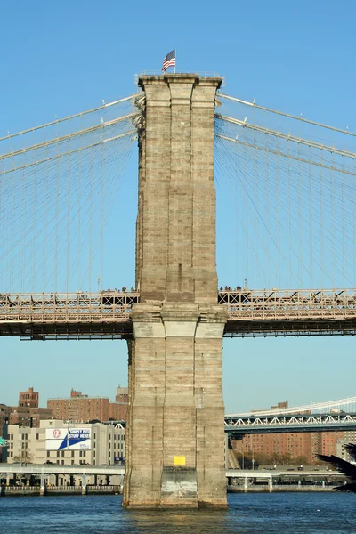
<instances>
[{"instance_id":1,"label":"whole near bridge deck with tan trusswork, both sides of the stone tower","mask_svg":"<svg viewBox=\"0 0 356 534\"><path fill-rule=\"evenodd\" d=\"M0 294L0 336L127 338L133 336L132 306L139 302L138 291ZM229 288L218 292L218 303L228 312L224 336L356 334L356 289Z\"/></svg>"}]
</instances>

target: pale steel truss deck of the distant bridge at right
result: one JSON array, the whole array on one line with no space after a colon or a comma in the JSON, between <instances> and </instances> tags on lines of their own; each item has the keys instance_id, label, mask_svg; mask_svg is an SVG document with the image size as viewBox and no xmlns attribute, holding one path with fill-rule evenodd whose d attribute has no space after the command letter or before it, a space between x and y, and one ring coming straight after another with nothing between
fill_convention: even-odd
<instances>
[{"instance_id":1,"label":"pale steel truss deck of the distant bridge at right","mask_svg":"<svg viewBox=\"0 0 356 534\"><path fill-rule=\"evenodd\" d=\"M256 433L355 431L356 414L288 414L270 416L229 416L225 433L236 437Z\"/></svg>"}]
</instances>

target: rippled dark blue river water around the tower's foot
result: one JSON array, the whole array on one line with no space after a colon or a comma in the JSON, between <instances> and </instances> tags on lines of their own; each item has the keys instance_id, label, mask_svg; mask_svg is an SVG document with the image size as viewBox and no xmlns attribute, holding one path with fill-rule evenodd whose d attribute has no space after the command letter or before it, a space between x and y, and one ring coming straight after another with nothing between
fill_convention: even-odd
<instances>
[{"instance_id":1,"label":"rippled dark blue river water around the tower's foot","mask_svg":"<svg viewBox=\"0 0 356 534\"><path fill-rule=\"evenodd\" d=\"M138 512L121 496L0 498L5 534L356 534L356 495L230 494L228 512Z\"/></svg>"}]
</instances>

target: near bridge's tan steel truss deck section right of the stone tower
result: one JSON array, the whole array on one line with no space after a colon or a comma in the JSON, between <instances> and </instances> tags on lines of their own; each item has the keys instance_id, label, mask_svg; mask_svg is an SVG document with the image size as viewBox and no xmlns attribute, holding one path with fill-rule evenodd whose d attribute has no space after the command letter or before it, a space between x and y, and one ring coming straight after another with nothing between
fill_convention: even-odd
<instances>
[{"instance_id":1,"label":"near bridge's tan steel truss deck section right of the stone tower","mask_svg":"<svg viewBox=\"0 0 356 534\"><path fill-rule=\"evenodd\" d=\"M356 289L225 290L224 336L356 334Z\"/></svg>"}]
</instances>

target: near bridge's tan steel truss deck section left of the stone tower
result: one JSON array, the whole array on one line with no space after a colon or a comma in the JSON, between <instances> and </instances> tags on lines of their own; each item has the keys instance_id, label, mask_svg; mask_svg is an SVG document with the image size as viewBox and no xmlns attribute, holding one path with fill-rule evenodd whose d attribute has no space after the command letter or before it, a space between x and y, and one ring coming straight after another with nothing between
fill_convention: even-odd
<instances>
[{"instance_id":1,"label":"near bridge's tan steel truss deck section left of the stone tower","mask_svg":"<svg viewBox=\"0 0 356 534\"><path fill-rule=\"evenodd\" d=\"M137 291L0 294L0 336L115 339L132 336Z\"/></svg>"}]
</instances>

